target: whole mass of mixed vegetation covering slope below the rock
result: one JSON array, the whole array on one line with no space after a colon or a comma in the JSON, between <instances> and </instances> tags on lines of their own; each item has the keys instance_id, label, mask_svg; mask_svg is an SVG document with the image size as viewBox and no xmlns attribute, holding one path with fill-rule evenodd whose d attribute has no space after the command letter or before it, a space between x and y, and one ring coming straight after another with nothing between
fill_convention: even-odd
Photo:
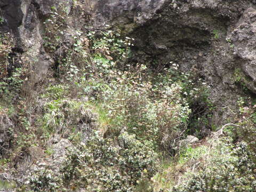
<instances>
[{"instance_id":1,"label":"whole mass of mixed vegetation covering slope below the rock","mask_svg":"<svg viewBox=\"0 0 256 192\"><path fill-rule=\"evenodd\" d=\"M233 117L214 124L197 71L140 61L122 30L75 28L67 17L51 7L45 20L53 62L40 81L34 51L12 55L17 40L0 37L3 191L256 191L256 100L246 85Z\"/></svg>"}]
</instances>

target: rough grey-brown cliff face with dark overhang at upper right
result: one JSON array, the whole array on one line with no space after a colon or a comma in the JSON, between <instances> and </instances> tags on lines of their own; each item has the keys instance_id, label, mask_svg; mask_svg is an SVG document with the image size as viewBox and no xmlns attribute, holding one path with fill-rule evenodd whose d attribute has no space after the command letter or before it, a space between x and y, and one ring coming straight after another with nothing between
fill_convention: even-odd
<instances>
[{"instance_id":1,"label":"rough grey-brown cliff face with dark overhang at upper right","mask_svg":"<svg viewBox=\"0 0 256 192\"><path fill-rule=\"evenodd\" d=\"M217 119L227 118L241 84L255 93L254 1L106 1L97 18L135 38L137 61L194 71L210 85ZM239 81L238 81L239 79ZM221 118L219 118L221 117Z\"/></svg>"}]
</instances>

